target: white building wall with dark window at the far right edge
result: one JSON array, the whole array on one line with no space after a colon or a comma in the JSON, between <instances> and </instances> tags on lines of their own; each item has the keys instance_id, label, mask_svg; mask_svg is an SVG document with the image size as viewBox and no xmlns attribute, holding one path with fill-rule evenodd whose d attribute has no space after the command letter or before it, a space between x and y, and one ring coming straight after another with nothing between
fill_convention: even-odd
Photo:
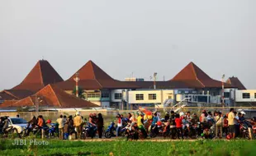
<instances>
[{"instance_id":1,"label":"white building wall with dark window at the far right edge","mask_svg":"<svg viewBox=\"0 0 256 156\"><path fill-rule=\"evenodd\" d=\"M249 99L243 99L243 93L249 93ZM256 102L256 89L248 89L248 90L235 90L235 102Z\"/></svg>"}]
</instances>

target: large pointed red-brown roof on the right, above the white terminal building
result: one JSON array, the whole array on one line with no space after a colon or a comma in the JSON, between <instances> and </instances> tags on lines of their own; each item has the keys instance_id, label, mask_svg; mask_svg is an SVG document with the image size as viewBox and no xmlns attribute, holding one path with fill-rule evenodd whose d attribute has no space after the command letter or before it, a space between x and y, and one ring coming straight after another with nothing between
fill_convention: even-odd
<instances>
[{"instance_id":1,"label":"large pointed red-brown roof on the right, above the white terminal building","mask_svg":"<svg viewBox=\"0 0 256 156\"><path fill-rule=\"evenodd\" d=\"M222 83L219 80L213 80L204 71L202 71L196 64L190 62L182 71L179 71L172 80L169 81L183 81L195 88L220 88ZM232 88L230 84L224 84L225 87Z\"/></svg>"}]
</instances>

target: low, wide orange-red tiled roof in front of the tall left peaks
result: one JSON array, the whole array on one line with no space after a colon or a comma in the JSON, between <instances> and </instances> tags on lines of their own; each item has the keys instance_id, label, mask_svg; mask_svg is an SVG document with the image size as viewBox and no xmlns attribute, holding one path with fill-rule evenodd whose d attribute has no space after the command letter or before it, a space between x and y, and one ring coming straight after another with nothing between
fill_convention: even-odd
<instances>
[{"instance_id":1,"label":"low, wide orange-red tiled roof in front of the tall left peaks","mask_svg":"<svg viewBox=\"0 0 256 156\"><path fill-rule=\"evenodd\" d=\"M40 102L38 102L40 98ZM97 104L88 102L84 99L79 99L73 94L68 94L64 90L59 89L56 85L46 85L36 94L21 99L16 103L9 105L9 108L17 108L24 106L36 106L39 103L40 107L49 108L94 108L99 107ZM4 105L5 106L5 105ZM1 107L1 105L0 105Z\"/></svg>"}]
</instances>

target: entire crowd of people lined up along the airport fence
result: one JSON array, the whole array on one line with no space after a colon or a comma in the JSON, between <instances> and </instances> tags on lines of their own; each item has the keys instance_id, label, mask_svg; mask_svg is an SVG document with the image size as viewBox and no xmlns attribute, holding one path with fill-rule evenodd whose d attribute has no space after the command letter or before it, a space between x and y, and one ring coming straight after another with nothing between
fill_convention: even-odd
<instances>
[{"instance_id":1,"label":"entire crowd of people lined up along the airport fence","mask_svg":"<svg viewBox=\"0 0 256 156\"><path fill-rule=\"evenodd\" d=\"M172 139L188 138L222 138L229 139L241 136L239 124L245 121L245 112L235 112L230 108L230 112L206 112L203 110L200 115L192 112L165 112L161 117L160 112L150 112L146 109L139 109L137 112L128 113L127 117L122 114L116 116L116 137L121 135L120 131L125 129L124 135L129 140L139 138L156 137L157 135L169 136ZM255 117L252 119L255 125ZM52 126L52 121L45 121L43 116L32 117L26 127L26 135L30 135L35 128L44 130L44 127ZM97 132L98 137L102 138L104 120L101 113L90 113L88 121L82 117L80 112L75 116L66 117L60 115L55 122L55 133L60 140L68 140L75 134L76 139L82 139L85 126L90 126L90 130ZM4 132L8 127L7 117L0 118L0 132ZM83 137L84 138L84 137Z\"/></svg>"}]
</instances>

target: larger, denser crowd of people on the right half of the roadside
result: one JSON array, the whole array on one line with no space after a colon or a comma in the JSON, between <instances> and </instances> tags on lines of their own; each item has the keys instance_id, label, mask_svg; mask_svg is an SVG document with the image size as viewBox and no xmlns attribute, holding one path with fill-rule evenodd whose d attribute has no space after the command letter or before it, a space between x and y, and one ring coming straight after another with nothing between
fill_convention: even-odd
<instances>
[{"instance_id":1,"label":"larger, denser crowd of people on the right half of the roadside","mask_svg":"<svg viewBox=\"0 0 256 156\"><path fill-rule=\"evenodd\" d=\"M162 118L159 112L149 112L147 110L137 113L129 113L127 118L118 115L116 136L121 127L126 126L127 131L133 131L138 128L146 138L148 135L170 136L172 139L184 139L203 137L206 139L222 138L235 139L243 136L240 124L245 122L245 112L235 112L230 108L230 112L206 112L203 110L199 116L191 112L165 112ZM127 121L127 122L124 122ZM122 125L123 124L123 125ZM125 125L124 125L125 124ZM255 125L255 117L251 120ZM130 127L130 129L129 129Z\"/></svg>"}]
</instances>

